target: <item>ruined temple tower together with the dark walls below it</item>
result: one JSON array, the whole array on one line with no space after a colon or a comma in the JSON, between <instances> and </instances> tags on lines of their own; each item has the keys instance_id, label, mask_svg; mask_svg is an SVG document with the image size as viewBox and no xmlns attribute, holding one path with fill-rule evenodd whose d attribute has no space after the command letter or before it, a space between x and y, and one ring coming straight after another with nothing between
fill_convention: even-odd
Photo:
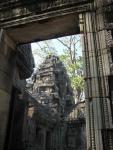
<instances>
[{"instance_id":1,"label":"ruined temple tower together with the dark walls below it","mask_svg":"<svg viewBox=\"0 0 113 150\"><path fill-rule=\"evenodd\" d=\"M29 73L27 67L24 71L22 78ZM47 56L32 75L32 84L28 87L23 95L19 89L14 88L12 92L15 93L12 94L14 109L10 113L13 118L10 118L11 131L6 147L11 150L85 150L85 122L70 120L76 105L66 68L60 59Z\"/></svg>"}]
</instances>

